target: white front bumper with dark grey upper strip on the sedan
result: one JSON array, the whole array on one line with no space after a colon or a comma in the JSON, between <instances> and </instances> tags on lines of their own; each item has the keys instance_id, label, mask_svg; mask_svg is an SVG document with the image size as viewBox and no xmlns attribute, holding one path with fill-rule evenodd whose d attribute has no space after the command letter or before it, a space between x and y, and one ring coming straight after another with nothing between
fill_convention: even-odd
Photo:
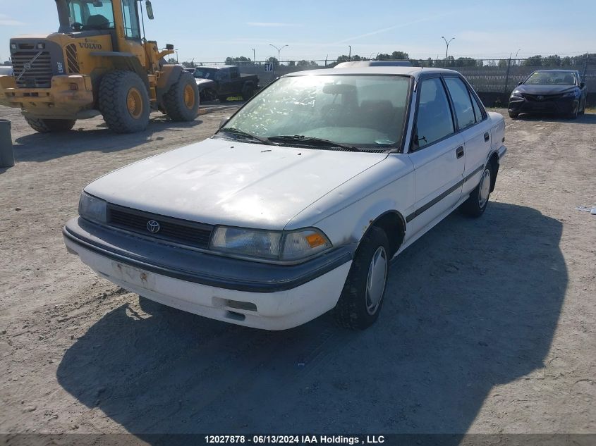
<instances>
[{"instance_id":1,"label":"white front bumper with dark grey upper strip on the sedan","mask_svg":"<svg viewBox=\"0 0 596 446\"><path fill-rule=\"evenodd\" d=\"M351 266L348 249L299 265L229 259L140 239L73 218L69 252L126 290L174 308L253 328L284 330L332 309Z\"/></svg>"}]
</instances>

